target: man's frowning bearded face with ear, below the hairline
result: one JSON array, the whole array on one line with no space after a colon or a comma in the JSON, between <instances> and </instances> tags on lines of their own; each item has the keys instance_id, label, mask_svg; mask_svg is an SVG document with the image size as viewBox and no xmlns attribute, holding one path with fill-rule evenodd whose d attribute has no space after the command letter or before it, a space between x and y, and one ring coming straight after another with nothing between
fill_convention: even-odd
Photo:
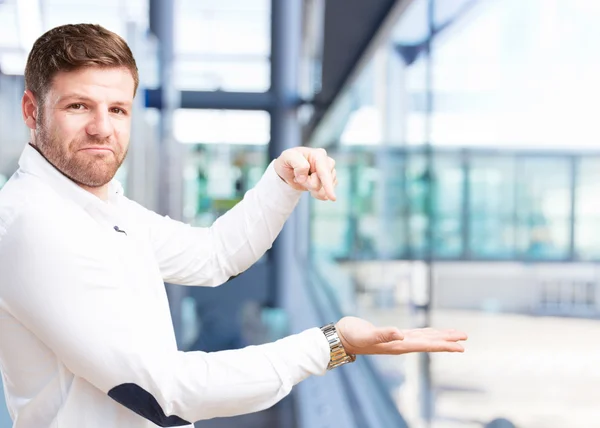
<instances>
[{"instance_id":1,"label":"man's frowning bearded face with ear, below the hairline","mask_svg":"<svg viewBox=\"0 0 600 428\"><path fill-rule=\"evenodd\" d=\"M27 125L34 125L33 143L77 184L103 187L127 154L133 96L134 81L126 68L61 72L43 105L30 106L37 107L37 116L32 111L27 119L25 112Z\"/></svg>"}]
</instances>

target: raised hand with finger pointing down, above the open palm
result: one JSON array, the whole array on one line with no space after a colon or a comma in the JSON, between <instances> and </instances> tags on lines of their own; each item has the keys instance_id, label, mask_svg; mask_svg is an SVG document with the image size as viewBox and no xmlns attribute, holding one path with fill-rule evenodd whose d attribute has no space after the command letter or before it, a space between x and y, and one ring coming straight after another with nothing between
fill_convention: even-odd
<instances>
[{"instance_id":1,"label":"raised hand with finger pointing down, above the open palm","mask_svg":"<svg viewBox=\"0 0 600 428\"><path fill-rule=\"evenodd\" d=\"M322 201L335 201L335 161L324 149L294 147L275 160L275 172L296 190L308 190Z\"/></svg>"}]
</instances>

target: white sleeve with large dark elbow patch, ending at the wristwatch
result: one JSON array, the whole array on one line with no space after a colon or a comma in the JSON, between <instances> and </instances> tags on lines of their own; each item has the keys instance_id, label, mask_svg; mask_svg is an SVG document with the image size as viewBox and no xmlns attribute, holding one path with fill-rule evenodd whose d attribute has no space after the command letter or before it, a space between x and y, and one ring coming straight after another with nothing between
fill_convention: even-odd
<instances>
[{"instance_id":1,"label":"white sleeve with large dark elbow patch, ending at the wristwatch","mask_svg":"<svg viewBox=\"0 0 600 428\"><path fill-rule=\"evenodd\" d=\"M65 239L63 222L49 227L43 213L15 220L0 241L0 305L123 406L159 426L182 426L270 407L325 372L329 347L316 328L224 352L165 346L152 328L155 308L140 304L114 255L89 234Z\"/></svg>"}]
</instances>

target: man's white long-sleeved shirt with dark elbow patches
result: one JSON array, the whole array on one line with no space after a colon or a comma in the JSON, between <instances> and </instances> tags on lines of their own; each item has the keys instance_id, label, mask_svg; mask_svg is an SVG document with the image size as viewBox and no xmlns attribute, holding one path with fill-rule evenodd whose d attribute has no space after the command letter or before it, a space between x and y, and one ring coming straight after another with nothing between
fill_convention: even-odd
<instances>
[{"instance_id":1,"label":"man's white long-sleeved shirt with dark elbow patches","mask_svg":"<svg viewBox=\"0 0 600 428\"><path fill-rule=\"evenodd\" d=\"M270 248L300 197L272 165L210 228L148 211L116 181L104 202L31 146L19 165L0 191L0 369L15 428L189 426L270 407L325 373L318 328L240 350L176 347L164 282L216 286Z\"/></svg>"}]
</instances>

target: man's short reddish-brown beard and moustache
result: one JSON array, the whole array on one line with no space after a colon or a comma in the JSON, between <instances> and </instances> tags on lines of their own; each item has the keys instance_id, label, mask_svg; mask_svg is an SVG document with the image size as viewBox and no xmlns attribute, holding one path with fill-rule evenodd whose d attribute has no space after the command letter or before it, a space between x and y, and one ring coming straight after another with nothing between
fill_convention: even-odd
<instances>
[{"instance_id":1,"label":"man's short reddish-brown beard and moustache","mask_svg":"<svg viewBox=\"0 0 600 428\"><path fill-rule=\"evenodd\" d=\"M35 145L42 155L63 175L79 185L102 187L109 183L123 164L127 150L111 143L111 138L94 138L86 135L68 143L52 132L39 118ZM86 147L107 147L113 150L103 153L80 151Z\"/></svg>"}]
</instances>

